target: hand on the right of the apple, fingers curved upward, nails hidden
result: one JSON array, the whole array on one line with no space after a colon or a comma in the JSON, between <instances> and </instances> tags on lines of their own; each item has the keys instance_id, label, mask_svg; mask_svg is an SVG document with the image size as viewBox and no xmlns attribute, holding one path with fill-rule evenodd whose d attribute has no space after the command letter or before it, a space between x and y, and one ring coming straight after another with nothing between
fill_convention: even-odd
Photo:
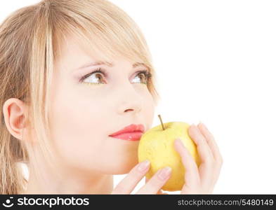
<instances>
[{"instance_id":1,"label":"hand on the right of the apple, fingers curved upward, nails hidden","mask_svg":"<svg viewBox=\"0 0 276 210\"><path fill-rule=\"evenodd\" d=\"M203 123L192 124L188 133L197 145L201 164L197 167L189 151L176 139L174 146L185 167L185 184L180 194L211 194L221 172L223 158L213 135Z\"/></svg>"}]
</instances>

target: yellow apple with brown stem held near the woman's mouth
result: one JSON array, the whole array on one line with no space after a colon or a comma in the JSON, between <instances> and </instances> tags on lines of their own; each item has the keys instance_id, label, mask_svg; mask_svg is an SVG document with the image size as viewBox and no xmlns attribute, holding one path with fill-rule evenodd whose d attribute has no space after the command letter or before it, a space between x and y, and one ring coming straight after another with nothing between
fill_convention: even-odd
<instances>
[{"instance_id":1,"label":"yellow apple with brown stem held near the woman's mouth","mask_svg":"<svg viewBox=\"0 0 276 210\"><path fill-rule=\"evenodd\" d=\"M159 116L161 123L162 119ZM150 169L145 175L150 179L159 169L169 166L171 167L171 177L162 190L176 191L181 190L184 183L185 168L181 161L179 153L173 146L173 142L180 138L192 158L194 158L197 166L199 166L199 155L197 147L190 139L188 134L188 123L170 122L162 123L156 127L147 130L140 138L138 146L138 161L150 160Z\"/></svg>"}]
</instances>

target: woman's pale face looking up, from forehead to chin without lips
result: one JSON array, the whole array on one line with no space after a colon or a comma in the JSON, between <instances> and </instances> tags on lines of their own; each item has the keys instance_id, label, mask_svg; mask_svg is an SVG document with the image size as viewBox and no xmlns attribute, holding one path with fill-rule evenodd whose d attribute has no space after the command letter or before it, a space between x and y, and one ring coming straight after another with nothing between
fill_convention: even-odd
<instances>
[{"instance_id":1,"label":"woman's pale face looking up, from forehead to chin without lips","mask_svg":"<svg viewBox=\"0 0 276 210\"><path fill-rule=\"evenodd\" d=\"M67 39L55 64L51 89L51 132L58 158L70 169L103 174L126 174L138 163L139 141L109 137L130 124L150 129L154 116L152 95L136 66L119 58L107 64L86 54ZM81 77L101 68L81 83ZM87 84L88 83L88 84ZM100 83L100 84L99 84ZM89 85L90 84L90 85ZM76 171L77 172L77 171Z\"/></svg>"}]
</instances>

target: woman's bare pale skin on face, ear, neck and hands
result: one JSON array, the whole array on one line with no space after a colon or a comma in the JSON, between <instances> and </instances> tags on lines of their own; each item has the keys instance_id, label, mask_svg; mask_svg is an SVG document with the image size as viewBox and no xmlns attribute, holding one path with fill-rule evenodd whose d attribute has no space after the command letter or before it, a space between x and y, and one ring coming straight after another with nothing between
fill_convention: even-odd
<instances>
[{"instance_id":1,"label":"woman's bare pale skin on face, ear, neck and hands","mask_svg":"<svg viewBox=\"0 0 276 210\"><path fill-rule=\"evenodd\" d=\"M30 160L32 167L24 194L130 194L149 169L138 170L138 141L108 137L132 123L143 124L145 131L152 126L155 116L152 95L137 76L137 71L144 70L145 66L133 67L135 62L118 57L112 61L112 66L99 64L79 69L98 61L86 52L76 44L74 37L68 37L63 55L55 64L51 87L51 141L59 167L51 171L40 153L35 153L33 158L38 163ZM106 77L100 73L103 84L79 83L82 76L98 67L107 71ZM90 78L87 83L100 83L95 73ZM36 139L31 139L32 129L25 120L26 110L24 102L8 99L3 108L5 123L13 137L35 146ZM190 126L189 134L197 145L202 164L197 168L188 151L175 141L186 170L185 185L180 193L212 193L221 171L221 153L204 124ZM34 169L42 172L47 184L34 176ZM127 175L114 186L114 174ZM162 194L160 189L170 174L163 180L158 174L146 180L137 194Z\"/></svg>"}]
</instances>

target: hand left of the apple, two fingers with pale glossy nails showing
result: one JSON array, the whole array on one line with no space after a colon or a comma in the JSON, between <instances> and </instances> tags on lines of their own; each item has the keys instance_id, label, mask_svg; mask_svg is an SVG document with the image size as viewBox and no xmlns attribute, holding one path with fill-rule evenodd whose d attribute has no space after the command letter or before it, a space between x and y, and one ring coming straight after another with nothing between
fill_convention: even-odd
<instances>
[{"instance_id":1,"label":"hand left of the apple, two fingers with pale glossy nails showing","mask_svg":"<svg viewBox=\"0 0 276 210\"><path fill-rule=\"evenodd\" d=\"M119 184L114 188L111 194L131 194L133 189L137 186L139 181L143 179L147 171L150 169L150 162L148 165L146 162L140 162L138 165L131 169L131 172L122 179ZM145 165L143 165L145 164ZM144 166L144 169L143 169ZM170 168L169 168L170 169ZM163 172L163 173L162 173ZM171 177L171 171L166 170L166 167L159 169L155 175L153 175L145 186L140 188L136 194L162 194L161 188L166 181Z\"/></svg>"}]
</instances>

